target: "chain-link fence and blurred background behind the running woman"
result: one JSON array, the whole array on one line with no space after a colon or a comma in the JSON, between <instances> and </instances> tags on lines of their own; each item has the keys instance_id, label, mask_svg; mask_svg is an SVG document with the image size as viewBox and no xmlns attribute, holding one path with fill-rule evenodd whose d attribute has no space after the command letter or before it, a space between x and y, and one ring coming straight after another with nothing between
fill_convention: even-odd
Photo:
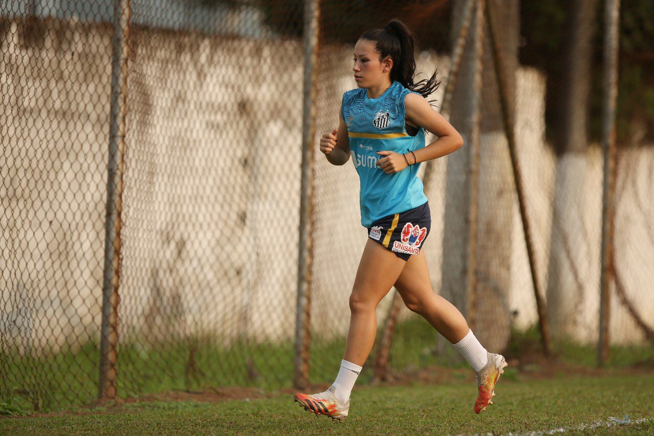
<instances>
[{"instance_id":1,"label":"chain-link fence and blurred background behind the running woman","mask_svg":"<svg viewBox=\"0 0 654 436\"><path fill-rule=\"evenodd\" d=\"M653 5L619 9L606 318L611 346L650 362ZM329 165L317 138L355 87L356 38L391 18L415 32L418 71L438 69L435 109L466 141L421 168L434 292L487 348L528 361L517 338L538 337L539 317L484 7L501 30L543 322L555 352L596 350L603 1L0 0L0 399L50 410L98 393L332 382L366 233L355 171ZM394 298L362 381L458 364Z\"/></svg>"}]
</instances>

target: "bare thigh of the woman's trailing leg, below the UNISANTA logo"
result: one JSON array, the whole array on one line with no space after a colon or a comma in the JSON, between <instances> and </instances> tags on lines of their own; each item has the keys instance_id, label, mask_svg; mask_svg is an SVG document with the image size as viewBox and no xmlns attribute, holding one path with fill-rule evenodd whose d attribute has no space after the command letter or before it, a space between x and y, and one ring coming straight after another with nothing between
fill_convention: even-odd
<instances>
[{"instance_id":1,"label":"bare thigh of the woman's trailing leg, below the UNISANTA logo","mask_svg":"<svg viewBox=\"0 0 654 436\"><path fill-rule=\"evenodd\" d=\"M420 250L419 254L412 255L406 261L394 285L404 304L411 310L419 308L426 298L433 297L434 291L424 250Z\"/></svg>"}]
</instances>

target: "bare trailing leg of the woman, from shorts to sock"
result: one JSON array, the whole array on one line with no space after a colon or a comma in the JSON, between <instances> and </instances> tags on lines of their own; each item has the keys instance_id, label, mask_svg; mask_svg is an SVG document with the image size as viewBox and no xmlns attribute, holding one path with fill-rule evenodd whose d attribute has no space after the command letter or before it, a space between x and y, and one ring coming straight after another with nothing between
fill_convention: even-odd
<instances>
[{"instance_id":1,"label":"bare trailing leg of the woman, from shorts to sock","mask_svg":"<svg viewBox=\"0 0 654 436\"><path fill-rule=\"evenodd\" d=\"M470 331L468 322L455 305L432 290L423 250L406 262L395 288L409 310L421 314L451 343L458 343Z\"/></svg>"}]
</instances>

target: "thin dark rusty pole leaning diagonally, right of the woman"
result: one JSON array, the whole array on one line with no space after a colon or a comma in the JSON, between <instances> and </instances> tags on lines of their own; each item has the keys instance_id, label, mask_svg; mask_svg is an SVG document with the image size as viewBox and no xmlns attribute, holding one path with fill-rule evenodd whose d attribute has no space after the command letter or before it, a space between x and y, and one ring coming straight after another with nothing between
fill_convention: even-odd
<instances>
[{"instance_id":1,"label":"thin dark rusty pole leaning diagonally, right of the woman","mask_svg":"<svg viewBox=\"0 0 654 436\"><path fill-rule=\"evenodd\" d=\"M498 90L500 92L500 105L502 106L502 120L504 120L504 129L506 130L506 139L509 144L509 153L511 154L511 168L513 169L513 179L515 181L515 192L518 197L518 205L520 209L520 218L523 223L523 232L525 233L525 244L527 248L527 257L529 260L529 268L532 276L532 284L534 286L534 297L536 297L536 309L538 310L538 321L540 327L541 340L543 343L543 351L546 356L550 356L552 352L552 344L549 337L549 324L547 324L547 316L545 316L545 304L543 303L542 292L540 291L540 283L538 282L538 275L536 274L536 256L534 255L534 244L531 240L531 233L529 231L529 220L526 212L525 205L525 190L523 188L523 178L521 169L518 162L516 144L515 144L515 114L509 110L509 99L506 89L506 78L504 76L504 69L502 68L502 55L500 48L497 44L496 33L494 29L494 21L492 20L492 7L487 5L486 22L489 29L490 46L493 53L493 64L495 74L497 76Z\"/></svg>"}]
</instances>

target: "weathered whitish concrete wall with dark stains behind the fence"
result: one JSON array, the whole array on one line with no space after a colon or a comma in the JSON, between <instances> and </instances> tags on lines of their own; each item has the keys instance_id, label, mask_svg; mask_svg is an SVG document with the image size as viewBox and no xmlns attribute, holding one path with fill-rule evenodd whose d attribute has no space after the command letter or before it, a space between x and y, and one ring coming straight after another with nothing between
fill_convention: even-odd
<instances>
[{"instance_id":1,"label":"weathered whitish concrete wall with dark stains behind the fence","mask_svg":"<svg viewBox=\"0 0 654 436\"><path fill-rule=\"evenodd\" d=\"M46 20L37 42L20 22L0 34L0 335L3 348L54 349L97 337L104 256L111 29ZM336 126L341 95L354 88L351 47L320 52L318 132ZM303 49L298 41L131 32L120 338L146 346L188 335L230 343L294 335L300 205ZM420 54L419 70L447 74L448 59ZM545 80L517 73L517 139L546 283L556 165L544 142ZM439 92L442 92L442 87ZM439 96L437 96L440 99ZM438 103L437 103L438 104ZM497 135L496 135L497 136ZM482 138L482 145L504 141ZM316 147L317 150L317 147ZM507 153L508 156L508 153ZM602 156L592 148L580 183L584 234L577 338L594 341L598 318ZM483 161L481 161L483 165ZM347 333L348 295L366 241L351 164L317 150L312 326ZM647 320L654 264L653 148L621 154L617 267ZM438 292L445 159L426 192L425 243ZM506 180L506 190L513 181ZM484 191L481 190L480 195ZM536 321L514 201L508 301L515 322ZM379 322L388 307L379 308ZM644 339L613 299L611 339ZM404 309L402 317L413 316ZM651 317L650 317L651 318ZM334 322L336 321L336 322Z\"/></svg>"}]
</instances>

